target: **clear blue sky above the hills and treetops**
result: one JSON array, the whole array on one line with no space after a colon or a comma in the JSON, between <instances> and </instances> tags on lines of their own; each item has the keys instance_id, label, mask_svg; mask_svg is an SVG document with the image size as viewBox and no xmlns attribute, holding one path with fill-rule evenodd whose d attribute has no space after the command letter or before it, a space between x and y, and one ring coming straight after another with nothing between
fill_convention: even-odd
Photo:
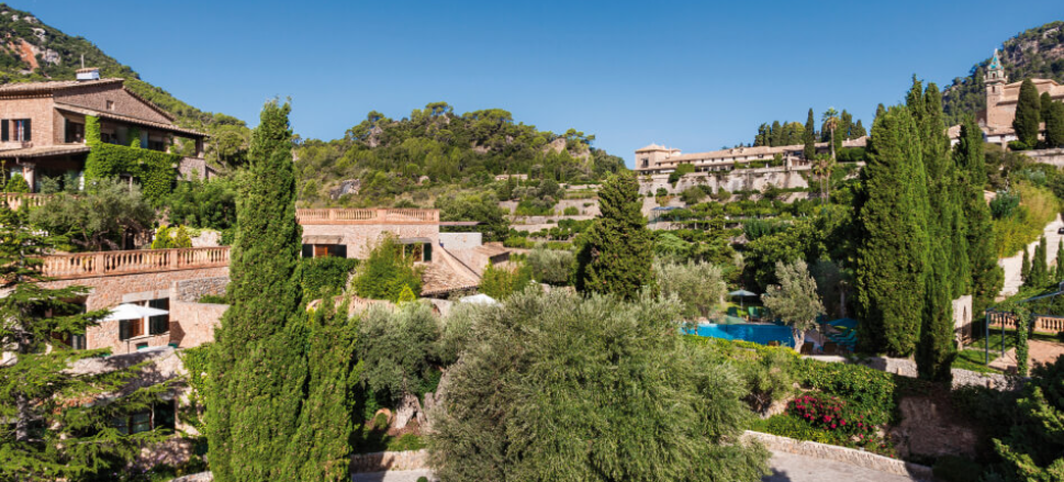
<instances>
[{"instance_id":1,"label":"clear blue sky above the hills and treetops","mask_svg":"<svg viewBox=\"0 0 1064 482\"><path fill-rule=\"evenodd\" d=\"M575 127L631 164L751 142L811 107L871 124L910 76L949 83L1004 40L1064 19L1024 1L9 1L200 109L257 123L291 97L303 137L446 101Z\"/></svg>"}]
</instances>

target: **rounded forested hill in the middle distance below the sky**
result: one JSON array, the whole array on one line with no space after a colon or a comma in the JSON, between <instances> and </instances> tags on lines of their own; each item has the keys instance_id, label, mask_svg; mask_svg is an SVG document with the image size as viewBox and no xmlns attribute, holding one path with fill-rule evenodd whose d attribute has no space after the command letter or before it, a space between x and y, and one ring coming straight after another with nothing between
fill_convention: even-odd
<instances>
[{"instance_id":1,"label":"rounded forested hill in the middle distance below the sky","mask_svg":"<svg viewBox=\"0 0 1064 482\"><path fill-rule=\"evenodd\" d=\"M591 147L593 141L572 128L539 131L501 109L456 114L436 102L401 120L373 111L343 139L302 144L300 199L381 205L410 194L405 199L421 205L440 193L436 188L486 188L497 175L523 175L515 177L527 178L525 183L586 183L625 168L620 157ZM356 180L357 195L339 189Z\"/></svg>"}]
</instances>

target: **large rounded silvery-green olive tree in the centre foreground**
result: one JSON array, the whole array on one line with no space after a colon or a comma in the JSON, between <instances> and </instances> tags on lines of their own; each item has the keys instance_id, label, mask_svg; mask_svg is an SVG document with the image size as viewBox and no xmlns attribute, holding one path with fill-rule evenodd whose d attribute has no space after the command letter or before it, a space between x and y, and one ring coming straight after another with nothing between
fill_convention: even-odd
<instances>
[{"instance_id":1,"label":"large rounded silvery-green olive tree in the centre foreground","mask_svg":"<svg viewBox=\"0 0 1064 482\"><path fill-rule=\"evenodd\" d=\"M675 301L524 291L472 315L430 414L447 481L759 481L736 370L682 343ZM563 429L560 429L563 427Z\"/></svg>"}]
</instances>

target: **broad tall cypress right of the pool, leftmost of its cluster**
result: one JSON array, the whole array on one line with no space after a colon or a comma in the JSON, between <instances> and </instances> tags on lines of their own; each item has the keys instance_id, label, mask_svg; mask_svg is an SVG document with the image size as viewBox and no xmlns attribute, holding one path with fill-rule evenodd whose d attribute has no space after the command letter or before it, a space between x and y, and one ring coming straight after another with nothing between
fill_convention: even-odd
<instances>
[{"instance_id":1,"label":"broad tall cypress right of the pool, leftmost of its cluster","mask_svg":"<svg viewBox=\"0 0 1064 482\"><path fill-rule=\"evenodd\" d=\"M919 339L927 291L927 175L908 109L877 115L872 138L858 211L859 343L864 351L908 356Z\"/></svg>"}]
</instances>

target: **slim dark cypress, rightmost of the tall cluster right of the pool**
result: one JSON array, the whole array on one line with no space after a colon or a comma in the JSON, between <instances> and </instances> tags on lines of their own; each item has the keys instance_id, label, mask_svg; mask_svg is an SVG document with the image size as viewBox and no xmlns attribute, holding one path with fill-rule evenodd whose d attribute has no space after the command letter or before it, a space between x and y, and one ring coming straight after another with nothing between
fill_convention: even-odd
<instances>
[{"instance_id":1,"label":"slim dark cypress, rightmost of the tall cluster right of the pool","mask_svg":"<svg viewBox=\"0 0 1064 482\"><path fill-rule=\"evenodd\" d=\"M972 271L972 312L983 313L1001 289L1004 272L997 266L994 224L990 208L983 198L986 186L986 160L983 131L974 119L961 124L961 136L953 148L953 159L963 190L962 213L967 225L968 265Z\"/></svg>"}]
</instances>

